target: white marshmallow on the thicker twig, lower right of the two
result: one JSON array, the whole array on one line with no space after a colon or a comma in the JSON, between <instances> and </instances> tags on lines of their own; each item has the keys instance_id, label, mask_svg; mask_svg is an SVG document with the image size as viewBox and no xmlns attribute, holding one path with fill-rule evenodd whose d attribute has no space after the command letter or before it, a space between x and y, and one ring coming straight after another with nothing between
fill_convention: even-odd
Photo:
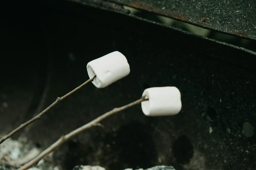
<instances>
[{"instance_id":1,"label":"white marshmallow on the thicker twig, lower right of the two","mask_svg":"<svg viewBox=\"0 0 256 170\"><path fill-rule=\"evenodd\" d=\"M146 116L176 115L181 109L180 92L177 87L148 88L142 96L148 99L141 103Z\"/></svg>"}]
</instances>

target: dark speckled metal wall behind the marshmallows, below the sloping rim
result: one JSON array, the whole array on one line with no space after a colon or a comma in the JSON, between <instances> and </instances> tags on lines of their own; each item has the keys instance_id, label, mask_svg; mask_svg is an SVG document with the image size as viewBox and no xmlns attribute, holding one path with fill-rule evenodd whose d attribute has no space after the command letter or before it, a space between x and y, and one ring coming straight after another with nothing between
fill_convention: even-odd
<instances>
[{"instance_id":1,"label":"dark speckled metal wall behind the marshmallows, below the sloping rim","mask_svg":"<svg viewBox=\"0 0 256 170\"><path fill-rule=\"evenodd\" d=\"M69 170L80 164L107 170L255 169L256 135L242 132L244 122L256 127L255 52L77 3L30 8L22 2L1 12L1 133L87 80L89 61L118 50L128 59L129 76L105 89L88 84L14 137L46 148L140 98L145 88L176 86L182 96L178 115L145 117L134 106L56 149L55 163Z\"/></svg>"}]
</instances>

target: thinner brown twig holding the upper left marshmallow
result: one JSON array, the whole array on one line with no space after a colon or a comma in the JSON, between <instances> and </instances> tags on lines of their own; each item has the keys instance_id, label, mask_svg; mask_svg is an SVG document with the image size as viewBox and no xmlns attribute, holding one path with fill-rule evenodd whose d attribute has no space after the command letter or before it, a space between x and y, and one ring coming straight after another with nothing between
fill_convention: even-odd
<instances>
[{"instance_id":1,"label":"thinner brown twig holding the upper left marshmallow","mask_svg":"<svg viewBox=\"0 0 256 170\"><path fill-rule=\"evenodd\" d=\"M21 130L22 128L26 127L27 125L29 125L30 123L32 123L33 121L37 120L37 119L41 119L41 116L43 116L44 113L46 113L48 110L50 110L53 106L55 106L57 103L59 103L61 100L65 99L66 97L68 97L69 95L71 95L72 93L76 92L77 90L79 90L81 87L83 87L84 85L86 85L87 83L91 82L94 80L96 76L94 76L93 78L88 79L86 82L84 82L83 84L81 84L80 86L78 86L76 89L72 90L71 92L65 94L62 97L57 97L56 101L53 102L50 106L48 106L46 109L44 109L41 113L39 113L37 116L35 116L34 118L28 120L26 123L21 124L19 127L17 127L16 129L14 129L12 132L10 132L8 135L2 137L0 139L0 144L3 143L6 139L8 139L9 137L11 137L13 134L15 134L16 132L18 132L19 130Z\"/></svg>"}]
</instances>

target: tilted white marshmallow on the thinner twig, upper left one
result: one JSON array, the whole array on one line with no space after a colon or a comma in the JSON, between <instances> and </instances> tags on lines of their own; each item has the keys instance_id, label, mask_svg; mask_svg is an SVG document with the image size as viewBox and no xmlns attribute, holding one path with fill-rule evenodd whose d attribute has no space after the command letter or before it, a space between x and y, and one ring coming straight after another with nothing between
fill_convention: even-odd
<instances>
[{"instance_id":1,"label":"tilted white marshmallow on the thinner twig, upper left one","mask_svg":"<svg viewBox=\"0 0 256 170\"><path fill-rule=\"evenodd\" d=\"M126 77L130 73L130 66L125 56L118 52L111 52L87 64L90 78L96 75L93 84L97 88L104 88L115 81Z\"/></svg>"}]
</instances>

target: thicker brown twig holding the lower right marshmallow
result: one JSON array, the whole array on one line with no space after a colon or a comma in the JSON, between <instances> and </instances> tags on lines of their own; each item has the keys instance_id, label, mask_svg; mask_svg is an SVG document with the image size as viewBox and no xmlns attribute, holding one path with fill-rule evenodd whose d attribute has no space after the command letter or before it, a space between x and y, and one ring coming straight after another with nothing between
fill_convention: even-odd
<instances>
[{"instance_id":1,"label":"thicker brown twig holding the lower right marshmallow","mask_svg":"<svg viewBox=\"0 0 256 170\"><path fill-rule=\"evenodd\" d=\"M128 105L122 106L122 107L118 107L118 108L114 108L113 110L99 116L98 118L90 121L89 123L77 128L76 130L68 133L67 135L61 136L59 140L57 140L54 144L52 144L49 148L45 149L42 153L40 153L37 157L35 157L33 160L31 160L30 162L26 163L24 166L20 167L18 170L26 170L30 167L32 167L33 165L36 165L44 156L46 156L47 154L51 153L54 149L56 149L57 147L59 147L63 142L67 141L68 139L70 139L71 137L77 135L78 133L93 127L93 126L97 126L98 123L103 120L106 119L107 117L120 112L122 110L125 110L131 106L137 105L141 102L144 102L148 99L145 99L145 97L142 97L139 100L136 100L135 102L132 102Z\"/></svg>"}]
</instances>

